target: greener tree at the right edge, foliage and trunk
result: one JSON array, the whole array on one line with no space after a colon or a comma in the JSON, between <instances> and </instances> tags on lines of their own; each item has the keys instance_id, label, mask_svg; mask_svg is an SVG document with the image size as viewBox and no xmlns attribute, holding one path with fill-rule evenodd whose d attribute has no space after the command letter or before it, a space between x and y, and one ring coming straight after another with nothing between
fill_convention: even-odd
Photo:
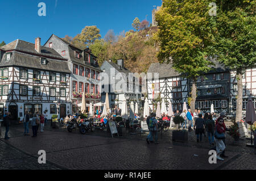
<instances>
[{"instance_id":1,"label":"greener tree at the right edge, foliage and trunk","mask_svg":"<svg viewBox=\"0 0 256 181\"><path fill-rule=\"evenodd\" d=\"M218 61L236 71L236 121L242 119L242 74L256 64L255 0L217 0L217 14L212 16L214 44L212 53Z\"/></svg>"}]
</instances>

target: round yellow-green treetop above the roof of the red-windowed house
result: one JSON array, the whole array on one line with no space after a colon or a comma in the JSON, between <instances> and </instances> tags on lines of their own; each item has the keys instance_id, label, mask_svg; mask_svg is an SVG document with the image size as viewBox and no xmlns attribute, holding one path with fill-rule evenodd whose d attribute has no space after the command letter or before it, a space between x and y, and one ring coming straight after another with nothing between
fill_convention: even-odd
<instances>
[{"instance_id":1,"label":"round yellow-green treetop above the roof of the red-windowed house","mask_svg":"<svg viewBox=\"0 0 256 181\"><path fill-rule=\"evenodd\" d=\"M86 26L84 29L82 29L79 37L77 37L78 40L88 47L92 45L95 40L100 38L100 29L98 29L97 26Z\"/></svg>"}]
</instances>

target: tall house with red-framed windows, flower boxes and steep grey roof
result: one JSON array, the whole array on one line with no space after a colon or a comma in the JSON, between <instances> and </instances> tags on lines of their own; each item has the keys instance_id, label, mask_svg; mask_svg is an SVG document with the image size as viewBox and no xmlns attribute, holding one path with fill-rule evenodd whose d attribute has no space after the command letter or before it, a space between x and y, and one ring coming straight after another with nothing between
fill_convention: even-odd
<instances>
[{"instance_id":1,"label":"tall house with red-framed windows, flower boxes and steep grey roof","mask_svg":"<svg viewBox=\"0 0 256 181\"><path fill-rule=\"evenodd\" d=\"M67 41L52 35L44 46L56 50L61 56L68 59L69 70L72 71L70 79L70 97L72 102L72 113L80 110L77 104L82 102L82 92L86 94L86 104L98 103L100 94L100 72L97 57L90 49L81 50ZM89 107L87 107L89 112Z\"/></svg>"}]
</instances>

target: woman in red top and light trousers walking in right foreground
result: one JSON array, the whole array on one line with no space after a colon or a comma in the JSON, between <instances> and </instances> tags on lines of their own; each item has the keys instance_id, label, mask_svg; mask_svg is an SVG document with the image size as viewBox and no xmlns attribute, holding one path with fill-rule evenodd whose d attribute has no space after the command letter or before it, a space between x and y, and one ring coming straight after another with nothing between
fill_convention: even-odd
<instances>
[{"instance_id":1,"label":"woman in red top and light trousers walking in right foreground","mask_svg":"<svg viewBox=\"0 0 256 181\"><path fill-rule=\"evenodd\" d=\"M216 151L217 151L217 159L224 160L220 157L221 153L225 150L226 146L222 139L225 138L226 128L224 126L224 119L219 118L216 124L215 129L215 142L216 142Z\"/></svg>"}]
</instances>

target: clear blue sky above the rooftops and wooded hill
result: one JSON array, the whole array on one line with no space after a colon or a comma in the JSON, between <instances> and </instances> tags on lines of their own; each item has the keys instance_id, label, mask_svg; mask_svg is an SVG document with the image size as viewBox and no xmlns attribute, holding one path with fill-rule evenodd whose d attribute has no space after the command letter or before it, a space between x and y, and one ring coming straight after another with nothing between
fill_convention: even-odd
<instances>
[{"instance_id":1,"label":"clear blue sky above the rooftops and wooded hill","mask_svg":"<svg viewBox=\"0 0 256 181\"><path fill-rule=\"evenodd\" d=\"M39 2L46 3L46 16L38 16ZM115 34L133 29L135 17L152 22L152 9L161 0L0 0L0 43L21 39L42 44L54 33L59 37L76 36L85 26L96 25L101 37L108 30Z\"/></svg>"}]
</instances>

